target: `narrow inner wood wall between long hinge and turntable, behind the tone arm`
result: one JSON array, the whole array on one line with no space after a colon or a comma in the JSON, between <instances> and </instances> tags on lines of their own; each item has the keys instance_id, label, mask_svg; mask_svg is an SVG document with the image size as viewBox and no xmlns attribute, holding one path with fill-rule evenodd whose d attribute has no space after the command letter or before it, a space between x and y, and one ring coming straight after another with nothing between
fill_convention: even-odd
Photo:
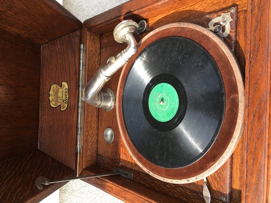
<instances>
[{"instance_id":1,"label":"narrow inner wood wall between long hinge and turntable, behind the tone arm","mask_svg":"<svg viewBox=\"0 0 271 203\"><path fill-rule=\"evenodd\" d=\"M87 32L84 29L86 38L85 47L85 78L86 84L97 72L100 63L100 35ZM98 146L98 109L91 105L83 104L83 168L96 165Z\"/></svg>"}]
</instances>

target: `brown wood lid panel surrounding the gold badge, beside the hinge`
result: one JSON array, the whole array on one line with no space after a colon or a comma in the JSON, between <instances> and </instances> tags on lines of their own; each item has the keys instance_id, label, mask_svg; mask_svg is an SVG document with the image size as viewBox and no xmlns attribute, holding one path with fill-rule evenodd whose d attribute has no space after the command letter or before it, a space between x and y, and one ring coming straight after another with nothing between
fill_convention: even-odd
<instances>
[{"instance_id":1,"label":"brown wood lid panel surrounding the gold badge, beside the hinge","mask_svg":"<svg viewBox=\"0 0 271 203\"><path fill-rule=\"evenodd\" d=\"M39 149L75 170L77 164L77 107L80 32L76 31L42 46ZM52 84L68 83L68 108L52 108Z\"/></svg>"}]
</instances>

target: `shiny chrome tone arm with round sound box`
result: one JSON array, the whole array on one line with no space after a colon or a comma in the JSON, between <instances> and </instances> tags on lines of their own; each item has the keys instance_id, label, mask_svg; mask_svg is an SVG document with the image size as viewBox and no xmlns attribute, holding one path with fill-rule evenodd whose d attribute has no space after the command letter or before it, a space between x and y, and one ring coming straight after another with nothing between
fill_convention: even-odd
<instances>
[{"instance_id":1,"label":"shiny chrome tone arm with round sound box","mask_svg":"<svg viewBox=\"0 0 271 203\"><path fill-rule=\"evenodd\" d=\"M110 57L107 63L100 67L95 76L88 81L82 93L82 99L95 107L110 111L114 106L114 93L107 88L102 90L110 77L131 58L137 51L137 42L133 36L138 30L138 24L132 20L119 23L114 29L114 38L119 43L127 43L128 47L115 57Z\"/></svg>"}]
</instances>

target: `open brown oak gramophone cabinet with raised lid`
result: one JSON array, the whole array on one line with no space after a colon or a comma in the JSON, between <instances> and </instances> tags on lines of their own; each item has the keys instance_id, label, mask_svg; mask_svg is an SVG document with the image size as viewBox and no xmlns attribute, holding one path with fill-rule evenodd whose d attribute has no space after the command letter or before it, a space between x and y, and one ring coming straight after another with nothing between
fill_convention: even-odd
<instances>
[{"instance_id":1,"label":"open brown oak gramophone cabinet with raised lid","mask_svg":"<svg viewBox=\"0 0 271 203\"><path fill-rule=\"evenodd\" d=\"M129 155L116 111L83 104L77 137L80 44L85 45L84 83L108 57L125 48L114 27L145 19L147 32L172 22L195 22L236 6L234 54L245 83L243 136L232 157L208 177L211 202L269 202L270 195L270 1L130 1L83 24L54 1L1 1L0 6L0 201L38 202L63 184L40 191L35 180L74 177L123 168L120 176L85 180L126 202L203 202L203 181L170 184L142 171ZM106 83L115 93L121 71ZM68 107L50 106L53 84L68 84ZM104 130L115 133L112 144ZM78 150L78 140L80 150ZM79 152L78 152L79 151Z\"/></svg>"}]
</instances>

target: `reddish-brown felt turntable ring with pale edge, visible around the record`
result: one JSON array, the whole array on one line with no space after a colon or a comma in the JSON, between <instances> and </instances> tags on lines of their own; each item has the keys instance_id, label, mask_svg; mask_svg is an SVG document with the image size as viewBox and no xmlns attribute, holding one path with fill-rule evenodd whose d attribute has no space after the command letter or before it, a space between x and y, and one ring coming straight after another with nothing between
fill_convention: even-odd
<instances>
[{"instance_id":1,"label":"reddish-brown felt turntable ring with pale edge, visible around the record","mask_svg":"<svg viewBox=\"0 0 271 203\"><path fill-rule=\"evenodd\" d=\"M216 142L201 159L182 168L162 168L150 163L147 159L145 159L130 141L123 120L123 88L131 65L146 46L152 44L158 39L164 38L165 36L185 37L204 47L216 61L225 86L226 110L221 130ZM223 43L220 43L220 41L221 40L214 35L213 32L201 29L200 26L189 23L169 24L161 27L159 30L150 32L145 38L143 38L138 47L137 53L132 56L132 58L123 68L116 97L118 126L121 130L124 143L128 147L131 156L143 168L144 171L160 180L171 183L189 183L200 180L204 176L214 173L218 169L218 165L214 167L212 166L215 163L218 163L219 160L221 162L221 157L224 157L224 160L222 161L222 163L224 163L233 152L234 147L240 138L244 113L244 104L242 104L244 102L244 87L242 87L243 80L242 77L240 77L239 68L235 59L231 57L232 53L228 50L228 48L226 48L225 45L224 47L221 47ZM233 114L232 112L236 113ZM231 150L227 149L228 146L231 148ZM227 152L228 150L230 153ZM224 152L227 152L227 154ZM221 166L222 163L220 163L219 166ZM212 168L212 170L210 170L210 168ZM208 171L207 174L206 171Z\"/></svg>"}]
</instances>

